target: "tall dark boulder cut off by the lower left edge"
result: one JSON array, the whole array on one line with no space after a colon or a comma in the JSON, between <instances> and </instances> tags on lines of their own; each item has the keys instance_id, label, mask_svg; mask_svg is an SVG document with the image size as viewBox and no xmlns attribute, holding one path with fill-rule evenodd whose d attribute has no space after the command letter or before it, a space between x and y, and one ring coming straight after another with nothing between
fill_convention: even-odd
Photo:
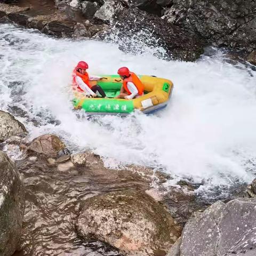
<instances>
[{"instance_id":1,"label":"tall dark boulder cut off by the lower left edge","mask_svg":"<svg viewBox=\"0 0 256 256\"><path fill-rule=\"evenodd\" d=\"M18 246L24 211L24 191L12 161L0 151L0 255L12 255Z\"/></svg>"}]
</instances>

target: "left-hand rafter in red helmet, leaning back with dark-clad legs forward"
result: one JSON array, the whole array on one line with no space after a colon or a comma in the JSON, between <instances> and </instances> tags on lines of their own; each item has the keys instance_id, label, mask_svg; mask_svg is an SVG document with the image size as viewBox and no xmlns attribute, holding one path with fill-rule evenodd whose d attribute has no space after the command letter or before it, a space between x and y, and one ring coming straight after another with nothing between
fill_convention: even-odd
<instances>
[{"instance_id":1,"label":"left-hand rafter in red helmet, leaning back with dark-clad legs forward","mask_svg":"<svg viewBox=\"0 0 256 256\"><path fill-rule=\"evenodd\" d=\"M102 78L99 76L89 76L87 73L88 64L85 61L79 61L73 70L73 89L79 92L83 92L86 95L91 95L91 97L97 97L97 93L101 97L106 98L106 93L98 85L91 85L90 81L99 81Z\"/></svg>"}]
</instances>

